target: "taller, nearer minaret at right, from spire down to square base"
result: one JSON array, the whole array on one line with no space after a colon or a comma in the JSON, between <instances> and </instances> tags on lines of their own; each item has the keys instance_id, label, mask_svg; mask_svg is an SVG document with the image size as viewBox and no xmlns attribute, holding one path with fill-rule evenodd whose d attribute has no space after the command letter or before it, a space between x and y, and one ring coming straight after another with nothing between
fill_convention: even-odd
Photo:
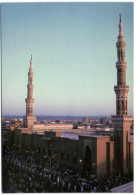
<instances>
[{"instance_id":1,"label":"taller, nearer minaret at right, from spire down to square base","mask_svg":"<svg viewBox=\"0 0 137 195\"><path fill-rule=\"evenodd\" d=\"M119 20L119 35L117 47L117 85L114 86L116 93L116 115L112 116L114 125L114 165L116 172L122 174L129 173L129 142L130 126L132 116L128 116L128 92L129 86L126 85L126 67L124 35L122 31L121 14Z\"/></svg>"}]
</instances>

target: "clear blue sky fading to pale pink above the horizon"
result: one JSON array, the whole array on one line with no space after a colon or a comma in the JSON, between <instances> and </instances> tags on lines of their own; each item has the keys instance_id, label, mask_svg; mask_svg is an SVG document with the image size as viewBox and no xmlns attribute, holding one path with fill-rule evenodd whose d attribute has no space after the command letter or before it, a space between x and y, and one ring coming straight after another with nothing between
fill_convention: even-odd
<instances>
[{"instance_id":1,"label":"clear blue sky fading to pale pink above the horizon","mask_svg":"<svg viewBox=\"0 0 137 195\"><path fill-rule=\"evenodd\" d=\"M25 115L32 54L34 115L114 115L119 13L133 114L133 3L3 3L2 115Z\"/></svg>"}]
</instances>

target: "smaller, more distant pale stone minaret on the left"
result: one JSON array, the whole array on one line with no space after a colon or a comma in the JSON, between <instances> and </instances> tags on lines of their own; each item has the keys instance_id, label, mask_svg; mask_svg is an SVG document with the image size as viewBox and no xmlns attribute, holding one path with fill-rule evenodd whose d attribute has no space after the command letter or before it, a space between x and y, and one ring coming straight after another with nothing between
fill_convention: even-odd
<instances>
[{"instance_id":1,"label":"smaller, more distant pale stone minaret on the left","mask_svg":"<svg viewBox=\"0 0 137 195\"><path fill-rule=\"evenodd\" d=\"M26 101L26 116L24 117L24 126L32 129L34 126L35 116L33 116L33 104L34 104L34 98L33 98L33 68L32 68L32 55L30 60L30 68L28 72L28 91L27 91L27 98Z\"/></svg>"}]
</instances>

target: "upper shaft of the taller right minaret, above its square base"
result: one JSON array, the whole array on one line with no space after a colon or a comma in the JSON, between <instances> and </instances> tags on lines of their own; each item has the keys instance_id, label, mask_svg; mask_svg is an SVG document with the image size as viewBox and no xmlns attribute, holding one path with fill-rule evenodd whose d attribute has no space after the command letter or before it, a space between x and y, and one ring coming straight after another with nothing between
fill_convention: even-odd
<instances>
[{"instance_id":1,"label":"upper shaft of the taller right minaret, above its square base","mask_svg":"<svg viewBox=\"0 0 137 195\"><path fill-rule=\"evenodd\" d=\"M116 93L116 115L127 115L127 95L129 91L129 86L126 86L126 67L127 63L125 62L125 47L126 43L124 41L124 35L122 32L122 22L121 14L119 21L119 35L118 42L116 43L117 47L117 57L118 61L116 62L117 68L117 86L114 87Z\"/></svg>"}]
</instances>

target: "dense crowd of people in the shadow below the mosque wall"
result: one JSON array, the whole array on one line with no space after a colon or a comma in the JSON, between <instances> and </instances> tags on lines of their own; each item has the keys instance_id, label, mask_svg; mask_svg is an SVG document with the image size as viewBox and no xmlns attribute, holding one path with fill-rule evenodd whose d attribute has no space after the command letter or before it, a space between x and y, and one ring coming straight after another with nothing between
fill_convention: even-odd
<instances>
[{"instance_id":1,"label":"dense crowd of people in the shadow below the mosque wall","mask_svg":"<svg viewBox=\"0 0 137 195\"><path fill-rule=\"evenodd\" d=\"M87 172L50 166L49 160L32 151L21 153L3 147L2 187L4 193L16 192L110 192L133 178L121 174L95 177Z\"/></svg>"}]
</instances>

